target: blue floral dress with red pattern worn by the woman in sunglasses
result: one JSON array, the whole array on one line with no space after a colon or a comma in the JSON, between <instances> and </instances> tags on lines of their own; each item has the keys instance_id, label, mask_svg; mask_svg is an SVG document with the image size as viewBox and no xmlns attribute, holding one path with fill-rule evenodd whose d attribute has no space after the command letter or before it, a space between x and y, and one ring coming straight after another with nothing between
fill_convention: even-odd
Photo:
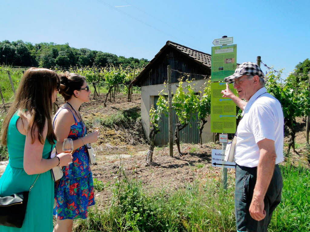
<instances>
[{"instance_id":1,"label":"blue floral dress with red pattern worn by the woman in sunglasses","mask_svg":"<svg viewBox=\"0 0 310 232\"><path fill-rule=\"evenodd\" d=\"M60 108L54 117L54 122L63 109L70 110L69 108ZM73 118L75 123L70 127L68 138L77 140L84 137L87 132L84 123L78 122L74 114ZM93 177L86 145L77 148L72 156L73 162L63 167L63 177L55 182L56 207L54 215L59 220L85 219L88 207L95 204Z\"/></svg>"}]
</instances>

